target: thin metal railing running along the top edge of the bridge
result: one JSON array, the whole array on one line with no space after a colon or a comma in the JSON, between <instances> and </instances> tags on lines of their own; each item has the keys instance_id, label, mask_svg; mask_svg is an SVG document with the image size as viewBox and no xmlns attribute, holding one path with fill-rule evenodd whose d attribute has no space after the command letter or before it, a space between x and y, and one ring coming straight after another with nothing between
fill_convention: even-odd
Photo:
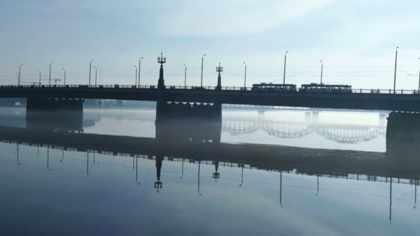
<instances>
[{"instance_id":1,"label":"thin metal railing running along the top edge of the bridge","mask_svg":"<svg viewBox=\"0 0 420 236\"><path fill-rule=\"evenodd\" d=\"M133 86L133 85L1 85L1 88L43 88L43 89L49 89L49 88L125 88L125 89L151 89L154 90L158 86L155 85L142 85L142 86ZM216 86L166 86L167 90L206 90L206 91L216 91ZM236 87L236 86L222 86L221 88L224 91L251 91L251 87ZM261 90L261 91L254 91L253 92L294 92L294 91L275 91L275 90ZM298 92L298 90L296 91ZM315 92L315 91L311 91ZM325 92L325 91L320 91ZM329 93L342 93L341 91L332 91ZM379 89L379 88L371 88L371 89L364 89L364 88L353 88L352 93L363 93L363 94L396 94L396 95L420 95L420 90L392 90L392 89Z\"/></svg>"}]
</instances>

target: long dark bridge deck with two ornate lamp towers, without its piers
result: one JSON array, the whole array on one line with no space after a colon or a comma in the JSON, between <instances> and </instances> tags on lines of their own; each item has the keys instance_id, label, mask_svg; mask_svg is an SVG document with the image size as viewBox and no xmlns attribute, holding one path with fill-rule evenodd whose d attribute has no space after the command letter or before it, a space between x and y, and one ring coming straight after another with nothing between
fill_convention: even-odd
<instances>
[{"instance_id":1,"label":"long dark bridge deck with two ornate lamp towers, without its piers","mask_svg":"<svg viewBox=\"0 0 420 236\"><path fill-rule=\"evenodd\" d=\"M216 87L165 86L160 61L158 86L109 85L30 85L0 86L0 98L23 99L115 99L169 101L195 104L243 104L356 110L396 110L420 112L416 90L357 89L351 92L257 91L251 88L223 87L220 66ZM164 94L164 95L162 95Z\"/></svg>"}]
</instances>

